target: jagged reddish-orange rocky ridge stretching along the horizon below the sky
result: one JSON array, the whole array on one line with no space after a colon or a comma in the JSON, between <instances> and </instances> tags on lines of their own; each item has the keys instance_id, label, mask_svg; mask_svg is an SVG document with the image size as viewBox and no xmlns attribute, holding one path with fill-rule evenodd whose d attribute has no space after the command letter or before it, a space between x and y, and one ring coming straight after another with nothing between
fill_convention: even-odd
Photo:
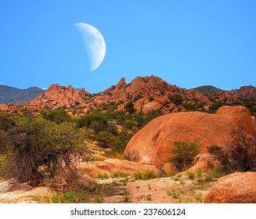
<instances>
[{"instance_id":1,"label":"jagged reddish-orange rocky ridge stretching along the horizon below the sky","mask_svg":"<svg viewBox=\"0 0 256 219\"><path fill-rule=\"evenodd\" d=\"M98 94L91 94L82 88L81 91L73 88L52 84L45 92L36 99L27 102L27 109L58 109L61 107L80 107L87 109L95 108L102 104L115 103L117 110L127 113L128 105L132 102L135 112L149 114L154 110L160 113L186 111L184 104L200 105L204 110L209 110L209 106L215 102L239 102L250 100L255 102L256 88L253 86L243 86L240 89L218 92L204 95L197 89L186 90L176 85L168 84L160 77L135 77L130 83L125 82L125 78ZM10 106L8 104L8 106ZM10 108L10 107L9 107ZM12 108L12 107L11 107ZM6 105L1 106L2 111L12 111ZM84 112L81 112L82 114Z\"/></svg>"}]
</instances>

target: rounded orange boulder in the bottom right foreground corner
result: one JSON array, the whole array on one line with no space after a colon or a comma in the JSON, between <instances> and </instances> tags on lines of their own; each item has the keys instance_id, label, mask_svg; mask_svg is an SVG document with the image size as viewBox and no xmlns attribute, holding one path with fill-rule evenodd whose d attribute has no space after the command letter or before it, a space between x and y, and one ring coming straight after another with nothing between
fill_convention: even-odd
<instances>
[{"instance_id":1,"label":"rounded orange boulder in the bottom right foreground corner","mask_svg":"<svg viewBox=\"0 0 256 219\"><path fill-rule=\"evenodd\" d=\"M204 198L204 203L255 203L256 173L236 172L220 178Z\"/></svg>"}]
</instances>

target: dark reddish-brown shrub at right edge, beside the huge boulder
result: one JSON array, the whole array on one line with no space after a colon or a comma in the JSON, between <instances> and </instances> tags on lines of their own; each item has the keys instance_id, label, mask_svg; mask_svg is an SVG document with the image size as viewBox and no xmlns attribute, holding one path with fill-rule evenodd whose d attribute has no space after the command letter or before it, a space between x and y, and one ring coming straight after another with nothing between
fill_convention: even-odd
<instances>
[{"instance_id":1,"label":"dark reddish-brown shrub at right edge, beside the huge boulder","mask_svg":"<svg viewBox=\"0 0 256 219\"><path fill-rule=\"evenodd\" d=\"M250 171L256 167L256 136L247 135L242 129L233 135L225 146L208 147L208 152L222 163L225 172Z\"/></svg>"}]
</instances>

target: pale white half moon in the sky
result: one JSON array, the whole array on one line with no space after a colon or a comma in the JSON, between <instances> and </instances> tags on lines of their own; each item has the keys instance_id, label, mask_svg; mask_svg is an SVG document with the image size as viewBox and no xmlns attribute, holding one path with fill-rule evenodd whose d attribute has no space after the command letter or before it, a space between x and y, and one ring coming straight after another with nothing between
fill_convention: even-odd
<instances>
[{"instance_id":1,"label":"pale white half moon in the sky","mask_svg":"<svg viewBox=\"0 0 256 219\"><path fill-rule=\"evenodd\" d=\"M75 23L84 38L85 47L88 52L90 69L96 70L103 62L106 55L106 42L103 35L88 23Z\"/></svg>"}]
</instances>

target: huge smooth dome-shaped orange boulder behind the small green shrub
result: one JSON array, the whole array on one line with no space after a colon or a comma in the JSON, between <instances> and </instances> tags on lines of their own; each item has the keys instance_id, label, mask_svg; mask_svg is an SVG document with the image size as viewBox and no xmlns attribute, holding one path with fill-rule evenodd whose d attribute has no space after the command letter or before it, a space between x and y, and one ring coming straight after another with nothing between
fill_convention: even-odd
<instances>
[{"instance_id":1,"label":"huge smooth dome-shaped orange boulder behind the small green shrub","mask_svg":"<svg viewBox=\"0 0 256 219\"><path fill-rule=\"evenodd\" d=\"M163 167L171 157L175 141L195 142L201 145L200 153L207 153L207 146L225 145L233 140L237 127L224 117L200 112L169 113L150 121L138 131L124 151L126 156L139 163Z\"/></svg>"}]
</instances>

